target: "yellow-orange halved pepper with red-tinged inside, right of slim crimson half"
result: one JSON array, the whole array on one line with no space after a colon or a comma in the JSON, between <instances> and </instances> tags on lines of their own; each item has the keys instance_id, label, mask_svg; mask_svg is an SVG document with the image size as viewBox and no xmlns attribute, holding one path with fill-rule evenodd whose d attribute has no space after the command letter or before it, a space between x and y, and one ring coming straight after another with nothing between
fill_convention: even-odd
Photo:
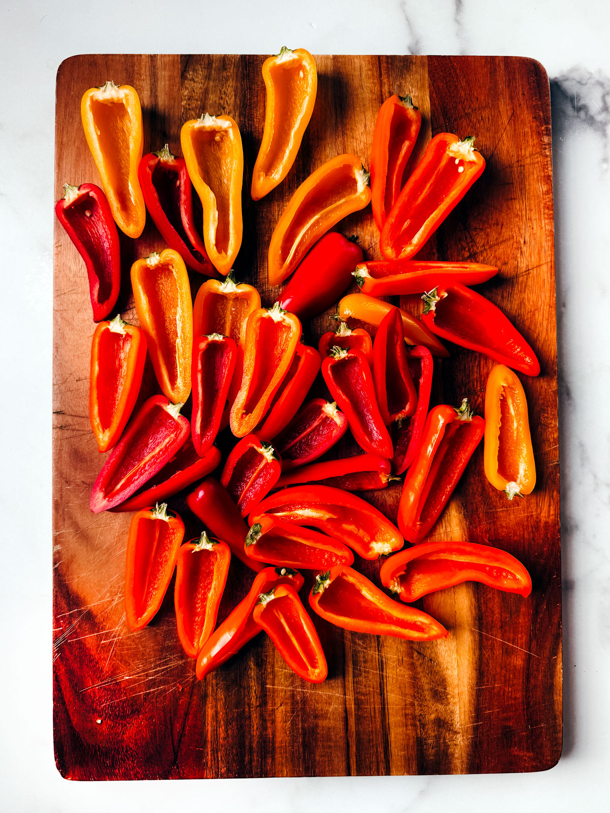
<instances>
[{"instance_id":1,"label":"yellow-orange halved pepper with red-tinged inside, right of slim crimson half","mask_svg":"<svg viewBox=\"0 0 610 813\"><path fill-rule=\"evenodd\" d=\"M301 323L276 304L259 308L248 317L243 355L242 384L229 423L235 437L244 437L259 424L290 369Z\"/></svg>"}]
</instances>

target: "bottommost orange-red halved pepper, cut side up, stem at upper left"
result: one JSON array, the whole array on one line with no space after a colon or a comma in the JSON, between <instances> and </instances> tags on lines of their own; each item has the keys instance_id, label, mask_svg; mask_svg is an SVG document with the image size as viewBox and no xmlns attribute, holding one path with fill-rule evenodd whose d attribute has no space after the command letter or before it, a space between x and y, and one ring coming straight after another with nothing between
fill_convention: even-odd
<instances>
[{"instance_id":1,"label":"bottommost orange-red halved pepper, cut side up, stem at upper left","mask_svg":"<svg viewBox=\"0 0 610 813\"><path fill-rule=\"evenodd\" d=\"M272 587L268 593L262 593L252 618L268 634L293 672L310 683L325 680L328 667L320 638L291 585Z\"/></svg>"}]
</instances>

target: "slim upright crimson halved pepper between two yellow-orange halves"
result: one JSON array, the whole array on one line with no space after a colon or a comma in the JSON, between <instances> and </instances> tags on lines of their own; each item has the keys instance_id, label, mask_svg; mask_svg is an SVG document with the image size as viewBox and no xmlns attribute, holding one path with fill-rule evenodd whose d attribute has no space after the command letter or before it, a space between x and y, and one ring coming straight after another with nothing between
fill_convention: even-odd
<instances>
[{"instance_id":1,"label":"slim upright crimson halved pepper between two yellow-orange halves","mask_svg":"<svg viewBox=\"0 0 610 813\"><path fill-rule=\"evenodd\" d=\"M206 454L220 432L236 358L237 346L228 336L211 333L210 336L194 338L190 371L193 389L190 431L197 454Z\"/></svg>"}]
</instances>

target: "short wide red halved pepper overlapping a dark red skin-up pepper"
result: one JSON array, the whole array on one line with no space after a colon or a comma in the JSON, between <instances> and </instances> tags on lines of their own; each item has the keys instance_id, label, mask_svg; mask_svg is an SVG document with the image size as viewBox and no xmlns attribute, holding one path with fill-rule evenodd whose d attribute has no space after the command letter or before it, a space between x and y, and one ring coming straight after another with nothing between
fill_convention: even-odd
<instances>
[{"instance_id":1,"label":"short wide red halved pepper overlapping a dark red skin-up pepper","mask_svg":"<svg viewBox=\"0 0 610 813\"><path fill-rule=\"evenodd\" d=\"M273 446L257 435L246 435L230 452L220 482L246 516L276 485L280 474L281 459Z\"/></svg>"}]
</instances>

